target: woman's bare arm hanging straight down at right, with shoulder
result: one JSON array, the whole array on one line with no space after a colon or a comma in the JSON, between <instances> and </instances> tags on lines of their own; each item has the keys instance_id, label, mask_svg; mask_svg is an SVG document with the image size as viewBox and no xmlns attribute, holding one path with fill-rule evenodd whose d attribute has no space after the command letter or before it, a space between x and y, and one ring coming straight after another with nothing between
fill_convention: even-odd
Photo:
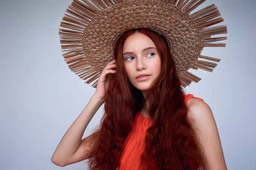
<instances>
[{"instance_id":1,"label":"woman's bare arm hanging straight down at right, with shoulder","mask_svg":"<svg viewBox=\"0 0 256 170\"><path fill-rule=\"evenodd\" d=\"M189 99L188 107L190 109L188 116L195 121L192 126L195 128L201 150L203 150L209 164L209 167L207 167L203 163L203 169L227 170L221 140L211 108L207 103L196 98Z\"/></svg>"}]
</instances>

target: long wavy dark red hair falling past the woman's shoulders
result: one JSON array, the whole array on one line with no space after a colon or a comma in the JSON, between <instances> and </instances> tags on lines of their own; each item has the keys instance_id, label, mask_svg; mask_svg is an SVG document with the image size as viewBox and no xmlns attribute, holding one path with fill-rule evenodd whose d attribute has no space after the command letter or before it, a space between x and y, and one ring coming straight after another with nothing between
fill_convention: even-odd
<instances>
[{"instance_id":1,"label":"long wavy dark red hair falling past the woman's shoulders","mask_svg":"<svg viewBox=\"0 0 256 170\"><path fill-rule=\"evenodd\" d=\"M161 58L160 75L151 83L145 98L130 83L122 57L126 38L135 32L151 38ZM132 129L135 115L142 108L154 122L145 136L145 150L140 160L143 169L200 169L206 160L190 124L192 121L187 117L189 109L184 103L185 92L166 38L150 29L128 30L116 41L114 58L116 73L109 75L104 115L95 130L95 145L91 148L93 157L87 159L89 169L116 170L119 167L122 145Z\"/></svg>"}]
</instances>

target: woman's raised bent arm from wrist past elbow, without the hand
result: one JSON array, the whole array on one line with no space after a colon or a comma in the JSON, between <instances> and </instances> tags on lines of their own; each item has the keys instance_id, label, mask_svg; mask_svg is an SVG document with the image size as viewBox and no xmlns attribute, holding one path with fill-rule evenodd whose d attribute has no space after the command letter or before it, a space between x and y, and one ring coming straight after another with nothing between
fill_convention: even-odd
<instances>
[{"instance_id":1,"label":"woman's raised bent arm from wrist past elbow, without the hand","mask_svg":"<svg viewBox=\"0 0 256 170\"><path fill-rule=\"evenodd\" d=\"M52 163L64 167L67 164L73 164L91 157L89 153L87 154L87 151L90 149L90 144L93 144L92 139L95 133L87 136L83 140L81 138L90 120L103 103L103 101L92 96L87 106L78 118L76 118L58 144L52 155Z\"/></svg>"}]
</instances>

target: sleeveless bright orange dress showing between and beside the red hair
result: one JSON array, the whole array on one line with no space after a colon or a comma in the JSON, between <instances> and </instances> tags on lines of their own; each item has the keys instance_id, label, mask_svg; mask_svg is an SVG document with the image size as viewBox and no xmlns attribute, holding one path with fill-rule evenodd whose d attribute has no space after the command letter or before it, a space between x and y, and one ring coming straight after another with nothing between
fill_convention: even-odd
<instances>
[{"instance_id":1,"label":"sleeveless bright orange dress showing between and beside the red hair","mask_svg":"<svg viewBox=\"0 0 256 170\"><path fill-rule=\"evenodd\" d=\"M185 95L185 104L187 104L190 98L194 97L192 94ZM204 101L201 98L198 98ZM121 155L120 168L116 170L142 170L140 167L140 156L144 151L144 139L146 130L152 125L151 118L145 118L141 115L140 111L137 113L134 119L133 127L128 137L123 144L123 152Z\"/></svg>"}]
</instances>

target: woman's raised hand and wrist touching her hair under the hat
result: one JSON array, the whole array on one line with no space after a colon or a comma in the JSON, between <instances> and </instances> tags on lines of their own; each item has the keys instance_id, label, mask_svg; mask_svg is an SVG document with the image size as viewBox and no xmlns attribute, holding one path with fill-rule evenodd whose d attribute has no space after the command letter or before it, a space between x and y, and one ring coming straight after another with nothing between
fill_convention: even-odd
<instances>
[{"instance_id":1,"label":"woman's raised hand and wrist touching her hair under the hat","mask_svg":"<svg viewBox=\"0 0 256 170\"><path fill-rule=\"evenodd\" d=\"M116 73L116 70L113 70L113 68L116 67L116 60L112 60L109 62L105 68L103 69L101 75L99 76L99 81L96 87L96 92L93 96L95 96L97 99L104 102L105 100L105 94L108 89L109 84L109 76L110 73Z\"/></svg>"}]
</instances>

